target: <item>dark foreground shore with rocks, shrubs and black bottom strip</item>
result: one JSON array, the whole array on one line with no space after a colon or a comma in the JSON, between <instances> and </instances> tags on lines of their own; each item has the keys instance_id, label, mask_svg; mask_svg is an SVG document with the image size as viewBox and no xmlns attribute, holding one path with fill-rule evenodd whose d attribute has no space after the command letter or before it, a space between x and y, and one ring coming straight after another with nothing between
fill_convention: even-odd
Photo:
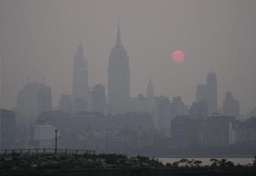
<instances>
[{"instance_id":1,"label":"dark foreground shore with rocks, shrubs and black bottom strip","mask_svg":"<svg viewBox=\"0 0 256 176\"><path fill-rule=\"evenodd\" d=\"M8 154L1 155L0 176L179 176L179 175L256 175L256 158L252 164L234 165L226 159L212 158L210 165L201 166L199 160L182 159L177 162L159 162L145 156L128 158L122 154L54 155Z\"/></svg>"}]
</instances>

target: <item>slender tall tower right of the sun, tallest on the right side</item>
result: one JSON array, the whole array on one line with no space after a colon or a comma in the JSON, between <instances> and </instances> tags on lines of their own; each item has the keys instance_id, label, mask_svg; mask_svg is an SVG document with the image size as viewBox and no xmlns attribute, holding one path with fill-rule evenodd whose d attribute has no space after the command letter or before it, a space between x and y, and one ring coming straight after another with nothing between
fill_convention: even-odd
<instances>
[{"instance_id":1,"label":"slender tall tower right of the sun, tallest on the right side","mask_svg":"<svg viewBox=\"0 0 256 176\"><path fill-rule=\"evenodd\" d=\"M208 73L206 77L207 85L207 106L208 115L217 112L217 76L215 73Z\"/></svg>"}]
</instances>

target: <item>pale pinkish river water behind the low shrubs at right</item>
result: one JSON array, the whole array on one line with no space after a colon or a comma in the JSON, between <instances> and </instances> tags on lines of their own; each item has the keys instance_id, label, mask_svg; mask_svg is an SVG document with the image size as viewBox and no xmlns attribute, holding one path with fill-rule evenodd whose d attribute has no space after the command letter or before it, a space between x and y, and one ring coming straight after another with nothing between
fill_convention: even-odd
<instances>
[{"instance_id":1,"label":"pale pinkish river water behind the low shrubs at right","mask_svg":"<svg viewBox=\"0 0 256 176\"><path fill-rule=\"evenodd\" d=\"M160 162L162 162L163 164L166 164L167 162L169 163L173 163L175 161L179 161L181 160L182 158L158 158L158 160ZM211 158L186 158L188 160L200 160L202 161L202 164L201 165L210 165L211 162L210 162L210 159ZM216 158L218 160L222 159L222 158ZM228 161L232 161L234 164L248 164L248 163L251 163L252 164L252 161L254 158L226 158Z\"/></svg>"}]
</instances>

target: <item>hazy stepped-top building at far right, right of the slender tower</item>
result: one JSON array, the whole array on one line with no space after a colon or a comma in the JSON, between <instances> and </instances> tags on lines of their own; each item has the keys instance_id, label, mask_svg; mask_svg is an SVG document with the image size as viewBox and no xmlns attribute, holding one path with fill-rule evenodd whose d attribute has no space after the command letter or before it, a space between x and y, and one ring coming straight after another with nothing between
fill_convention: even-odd
<instances>
[{"instance_id":1,"label":"hazy stepped-top building at far right, right of the slender tower","mask_svg":"<svg viewBox=\"0 0 256 176\"><path fill-rule=\"evenodd\" d=\"M225 116L235 116L239 118L239 101L235 100L234 96L230 91L225 93L225 100L223 101L223 115Z\"/></svg>"}]
</instances>

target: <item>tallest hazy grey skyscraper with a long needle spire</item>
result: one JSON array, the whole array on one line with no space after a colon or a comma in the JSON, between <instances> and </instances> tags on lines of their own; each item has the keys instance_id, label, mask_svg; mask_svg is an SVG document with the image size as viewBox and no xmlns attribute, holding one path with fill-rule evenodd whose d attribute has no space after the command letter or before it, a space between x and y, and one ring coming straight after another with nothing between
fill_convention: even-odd
<instances>
[{"instance_id":1,"label":"tallest hazy grey skyscraper with a long needle spire","mask_svg":"<svg viewBox=\"0 0 256 176\"><path fill-rule=\"evenodd\" d=\"M119 18L116 45L108 58L108 104L118 113L128 112L130 100L130 67L127 52L121 43Z\"/></svg>"}]
</instances>

